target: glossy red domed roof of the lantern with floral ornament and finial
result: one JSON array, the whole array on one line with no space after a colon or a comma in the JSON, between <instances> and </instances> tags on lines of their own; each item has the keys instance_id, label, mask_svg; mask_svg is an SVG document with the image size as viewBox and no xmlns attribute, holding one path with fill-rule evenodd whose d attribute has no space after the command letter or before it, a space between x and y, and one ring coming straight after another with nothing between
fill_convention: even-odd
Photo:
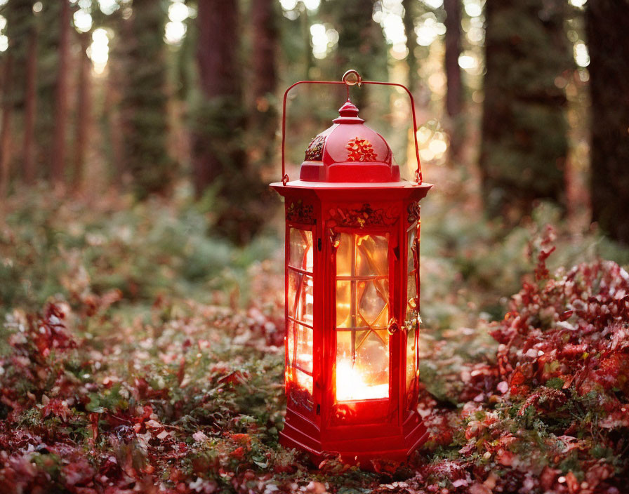
<instances>
[{"instance_id":1,"label":"glossy red domed roof of the lantern with floral ornament and finial","mask_svg":"<svg viewBox=\"0 0 629 494\"><path fill-rule=\"evenodd\" d=\"M349 99L333 125L307 147L301 164L304 182L400 182L399 166L385 138L364 124Z\"/></svg>"}]
</instances>

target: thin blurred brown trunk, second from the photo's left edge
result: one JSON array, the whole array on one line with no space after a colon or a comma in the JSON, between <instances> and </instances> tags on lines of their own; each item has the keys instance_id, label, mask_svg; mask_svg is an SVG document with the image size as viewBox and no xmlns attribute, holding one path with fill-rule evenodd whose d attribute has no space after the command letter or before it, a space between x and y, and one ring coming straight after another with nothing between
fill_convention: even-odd
<instances>
[{"instance_id":1,"label":"thin blurred brown trunk, second from the photo's left edge","mask_svg":"<svg viewBox=\"0 0 629 494\"><path fill-rule=\"evenodd\" d=\"M37 176L34 162L35 115L37 114L37 26L29 34L26 60L26 93L24 99L24 141L22 145L23 178L32 184Z\"/></svg>"}]
</instances>

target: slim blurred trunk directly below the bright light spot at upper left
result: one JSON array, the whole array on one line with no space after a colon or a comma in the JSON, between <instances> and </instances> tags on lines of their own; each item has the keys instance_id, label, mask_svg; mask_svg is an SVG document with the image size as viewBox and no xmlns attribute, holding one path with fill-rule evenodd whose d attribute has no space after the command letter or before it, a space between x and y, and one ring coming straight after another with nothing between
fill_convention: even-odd
<instances>
[{"instance_id":1,"label":"slim blurred trunk directly below the bright light spot at upper left","mask_svg":"<svg viewBox=\"0 0 629 494\"><path fill-rule=\"evenodd\" d=\"M74 189L81 187L91 131L91 62L87 56L91 32L84 32L79 36L81 53L79 57L79 82L77 84L77 121L74 125L74 163L72 166L72 187Z\"/></svg>"}]
</instances>

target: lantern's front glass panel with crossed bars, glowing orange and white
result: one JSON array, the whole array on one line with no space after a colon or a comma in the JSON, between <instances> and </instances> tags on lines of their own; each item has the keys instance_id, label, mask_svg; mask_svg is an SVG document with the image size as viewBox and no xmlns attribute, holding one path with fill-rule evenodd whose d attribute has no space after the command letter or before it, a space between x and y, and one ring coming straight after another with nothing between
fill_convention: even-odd
<instances>
[{"instance_id":1,"label":"lantern's front glass panel with crossed bars, glowing orange and white","mask_svg":"<svg viewBox=\"0 0 629 494\"><path fill-rule=\"evenodd\" d=\"M389 396L388 235L341 233L336 258L336 399Z\"/></svg>"}]
</instances>

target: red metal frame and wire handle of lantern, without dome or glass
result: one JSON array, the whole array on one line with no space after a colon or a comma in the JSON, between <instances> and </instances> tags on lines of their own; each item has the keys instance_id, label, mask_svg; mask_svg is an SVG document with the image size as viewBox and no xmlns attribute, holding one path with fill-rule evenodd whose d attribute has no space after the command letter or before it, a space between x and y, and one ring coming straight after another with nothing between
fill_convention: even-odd
<instances>
[{"instance_id":1,"label":"red metal frame and wire handle of lantern, without dome or glass","mask_svg":"<svg viewBox=\"0 0 629 494\"><path fill-rule=\"evenodd\" d=\"M407 311L409 236L416 228L412 258L417 270L417 311L419 310L419 205L432 185L423 183L419 149L415 137L417 170L415 182L302 182L290 181L285 170L286 99L299 84L374 84L403 88L411 100L413 135L416 116L413 96L401 84L363 81L347 71L341 81L299 81L284 93L282 109L282 181L270 186L284 197L286 213L286 328L289 318L289 237L291 228L312 232L312 394L296 392L289 373L289 340L286 339L286 418L280 443L299 448L320 461L339 454L345 462L369 467L371 460L405 460L425 441L428 432L416 410L418 396L418 316L414 331L414 369L410 387L406 383L406 347L409 328ZM343 232L388 234L388 321L389 392L386 399L340 402L336 399L336 249ZM352 261L353 262L353 261ZM290 268L293 269L293 268ZM296 342L293 343L296 345ZM302 390L303 391L303 390Z\"/></svg>"}]
</instances>

